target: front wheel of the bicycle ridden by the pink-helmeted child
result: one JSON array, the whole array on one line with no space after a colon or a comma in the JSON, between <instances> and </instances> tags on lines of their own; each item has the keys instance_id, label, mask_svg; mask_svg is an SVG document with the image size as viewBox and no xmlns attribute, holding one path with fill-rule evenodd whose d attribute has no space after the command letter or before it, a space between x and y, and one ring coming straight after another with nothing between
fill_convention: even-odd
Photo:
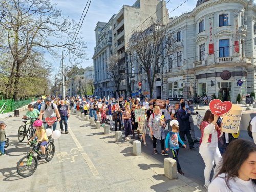
<instances>
[{"instance_id":1,"label":"front wheel of the bicycle ridden by the pink-helmeted child","mask_svg":"<svg viewBox=\"0 0 256 192\"><path fill-rule=\"evenodd\" d=\"M17 164L17 172L22 177L29 177L35 172L37 164L37 159L34 156L30 157L29 155L26 155L19 160Z\"/></svg>"}]
</instances>

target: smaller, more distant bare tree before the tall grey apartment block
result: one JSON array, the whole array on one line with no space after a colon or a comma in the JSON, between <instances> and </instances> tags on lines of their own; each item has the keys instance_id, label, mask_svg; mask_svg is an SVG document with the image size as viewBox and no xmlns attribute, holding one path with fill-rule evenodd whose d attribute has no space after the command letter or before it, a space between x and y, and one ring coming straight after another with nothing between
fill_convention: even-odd
<instances>
[{"instance_id":1,"label":"smaller, more distant bare tree before the tall grey apartment block","mask_svg":"<svg viewBox=\"0 0 256 192\"><path fill-rule=\"evenodd\" d=\"M109 57L107 63L107 73L111 76L111 78L114 80L117 94L120 97L120 83L123 79L123 74L125 74L125 69L120 69L120 61L121 56L119 54L114 54L111 57Z\"/></svg>"}]
</instances>

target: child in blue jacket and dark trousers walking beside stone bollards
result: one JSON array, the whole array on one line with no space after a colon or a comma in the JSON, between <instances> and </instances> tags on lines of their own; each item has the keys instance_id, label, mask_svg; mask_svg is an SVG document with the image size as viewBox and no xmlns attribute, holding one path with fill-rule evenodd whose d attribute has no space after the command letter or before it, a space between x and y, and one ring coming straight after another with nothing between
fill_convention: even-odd
<instances>
[{"instance_id":1,"label":"child in blue jacket and dark trousers walking beside stone bollards","mask_svg":"<svg viewBox=\"0 0 256 192\"><path fill-rule=\"evenodd\" d=\"M179 159L178 159L178 153L179 153L179 148L180 148L179 142L185 148L186 148L186 145L180 139L180 135L178 132L179 132L179 126L177 124L173 124L172 131L170 131L165 138L165 147L166 147L166 151L169 151L169 147L170 147L170 151L172 152L173 158L176 160L176 163L177 163L178 172L180 174L184 175L184 173L181 170Z\"/></svg>"}]
</instances>

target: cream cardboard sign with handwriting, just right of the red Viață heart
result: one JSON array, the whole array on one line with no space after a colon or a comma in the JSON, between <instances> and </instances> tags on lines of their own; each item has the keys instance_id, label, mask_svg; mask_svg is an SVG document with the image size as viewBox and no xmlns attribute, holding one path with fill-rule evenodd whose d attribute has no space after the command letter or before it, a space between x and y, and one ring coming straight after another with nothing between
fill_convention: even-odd
<instances>
[{"instance_id":1,"label":"cream cardboard sign with handwriting, just right of the red Via\u021b\u0103 heart","mask_svg":"<svg viewBox=\"0 0 256 192\"><path fill-rule=\"evenodd\" d=\"M234 104L228 113L223 115L221 131L226 133L238 133L242 116L242 108Z\"/></svg>"}]
</instances>

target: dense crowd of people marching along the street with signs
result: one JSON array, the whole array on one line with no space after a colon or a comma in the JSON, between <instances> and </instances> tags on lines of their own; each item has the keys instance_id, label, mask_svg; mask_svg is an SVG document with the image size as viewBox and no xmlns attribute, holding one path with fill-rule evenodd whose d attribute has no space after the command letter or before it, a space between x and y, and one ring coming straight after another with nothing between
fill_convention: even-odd
<instances>
[{"instance_id":1,"label":"dense crowd of people marching along the street with signs","mask_svg":"<svg viewBox=\"0 0 256 192\"><path fill-rule=\"evenodd\" d=\"M146 135L148 134L152 139L155 154L159 154L156 147L159 140L161 155L168 156L166 151L169 151L177 161L177 170L182 175L184 173L179 163L178 153L180 148L186 148L183 142L186 141L186 135L190 150L197 148L194 143L200 144L199 154L205 163L204 187L208 191L256 191L256 144L242 139L232 141L229 134L221 131L221 117L212 114L210 110L205 112L200 125L200 141L195 137L192 118L192 115L198 113L194 112L193 105L184 102L183 98L180 98L180 102L176 102L174 106L166 100L164 108L160 109L154 99L148 98L140 102L139 98L124 100L122 96L118 99L104 97L98 100L92 97L71 97L65 100L46 97L36 102L32 100L28 105L29 111L26 117L34 118L35 121L37 117L45 120L46 117L57 116L61 132L68 133L67 120L70 116L68 106L93 117L95 121L101 121L102 126L108 121L111 129L115 131L119 125L118 130L122 128L125 130L127 141L131 137L135 138L137 132L137 139L147 146ZM136 109L144 110L145 120L137 122ZM165 127L168 129L166 136ZM4 129L5 126L1 123L0 138ZM53 130L55 129L56 122L53 125ZM213 168L215 179L210 183Z\"/></svg>"}]
</instances>

